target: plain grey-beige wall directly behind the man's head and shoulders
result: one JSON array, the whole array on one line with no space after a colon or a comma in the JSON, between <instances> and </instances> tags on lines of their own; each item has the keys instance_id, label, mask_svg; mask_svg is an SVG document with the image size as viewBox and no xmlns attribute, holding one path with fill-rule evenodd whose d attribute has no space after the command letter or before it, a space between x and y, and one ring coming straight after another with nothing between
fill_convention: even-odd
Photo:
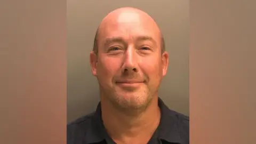
<instances>
[{"instance_id":1,"label":"plain grey-beige wall directly behind the man's head and shoulders","mask_svg":"<svg viewBox=\"0 0 256 144\"><path fill-rule=\"evenodd\" d=\"M189 1L68 1L68 122L90 113L99 101L89 52L95 30L105 15L118 7L134 6L149 13L163 31L170 53L169 71L159 96L171 109L189 113Z\"/></svg>"}]
</instances>

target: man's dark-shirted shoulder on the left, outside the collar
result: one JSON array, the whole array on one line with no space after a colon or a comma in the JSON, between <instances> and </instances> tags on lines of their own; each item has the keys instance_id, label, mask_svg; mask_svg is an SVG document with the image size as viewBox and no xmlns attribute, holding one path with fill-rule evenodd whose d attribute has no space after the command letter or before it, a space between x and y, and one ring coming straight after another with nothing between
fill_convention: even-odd
<instances>
[{"instance_id":1,"label":"man's dark-shirted shoulder on the left, outside the collar","mask_svg":"<svg viewBox=\"0 0 256 144\"><path fill-rule=\"evenodd\" d=\"M79 139L84 139L86 131L90 128L94 113L79 117L67 124L67 143L74 143Z\"/></svg>"}]
</instances>

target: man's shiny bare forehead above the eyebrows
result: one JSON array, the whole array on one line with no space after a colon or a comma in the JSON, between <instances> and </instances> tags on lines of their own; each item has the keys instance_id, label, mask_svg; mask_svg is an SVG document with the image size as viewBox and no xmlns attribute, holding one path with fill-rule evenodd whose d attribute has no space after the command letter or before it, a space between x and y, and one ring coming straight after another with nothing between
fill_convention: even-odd
<instances>
[{"instance_id":1,"label":"man's shiny bare forehead above the eyebrows","mask_svg":"<svg viewBox=\"0 0 256 144\"><path fill-rule=\"evenodd\" d=\"M110 17L102 23L100 39L105 41L110 37L134 39L138 37L151 37L159 41L159 30L156 23L136 13L124 12L118 17Z\"/></svg>"}]
</instances>

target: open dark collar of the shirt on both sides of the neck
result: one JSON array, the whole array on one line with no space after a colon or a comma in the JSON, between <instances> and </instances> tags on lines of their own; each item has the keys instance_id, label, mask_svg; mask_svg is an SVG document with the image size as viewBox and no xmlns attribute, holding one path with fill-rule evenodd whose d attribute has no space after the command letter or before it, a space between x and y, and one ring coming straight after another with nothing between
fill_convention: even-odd
<instances>
[{"instance_id":1,"label":"open dark collar of the shirt on both sides of the neck","mask_svg":"<svg viewBox=\"0 0 256 144\"><path fill-rule=\"evenodd\" d=\"M170 143L182 143L179 135L178 118L175 112L170 110L161 98L158 98L158 107L161 109L161 120L156 130L157 137ZM107 137L109 136L103 126L99 102L92 116L91 125L87 129L85 141L87 143L97 143L106 140Z\"/></svg>"}]
</instances>

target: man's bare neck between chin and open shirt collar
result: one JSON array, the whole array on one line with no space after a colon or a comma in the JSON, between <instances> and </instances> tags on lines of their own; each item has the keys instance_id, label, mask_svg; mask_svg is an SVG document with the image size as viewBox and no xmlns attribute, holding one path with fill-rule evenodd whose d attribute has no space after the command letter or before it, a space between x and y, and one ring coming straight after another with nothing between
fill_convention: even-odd
<instances>
[{"instance_id":1,"label":"man's bare neck between chin and open shirt collar","mask_svg":"<svg viewBox=\"0 0 256 144\"><path fill-rule=\"evenodd\" d=\"M161 117L158 97L154 97L146 109L134 111L133 115L116 109L107 100L101 101L101 108L103 124L110 137L118 143L147 143Z\"/></svg>"}]
</instances>

